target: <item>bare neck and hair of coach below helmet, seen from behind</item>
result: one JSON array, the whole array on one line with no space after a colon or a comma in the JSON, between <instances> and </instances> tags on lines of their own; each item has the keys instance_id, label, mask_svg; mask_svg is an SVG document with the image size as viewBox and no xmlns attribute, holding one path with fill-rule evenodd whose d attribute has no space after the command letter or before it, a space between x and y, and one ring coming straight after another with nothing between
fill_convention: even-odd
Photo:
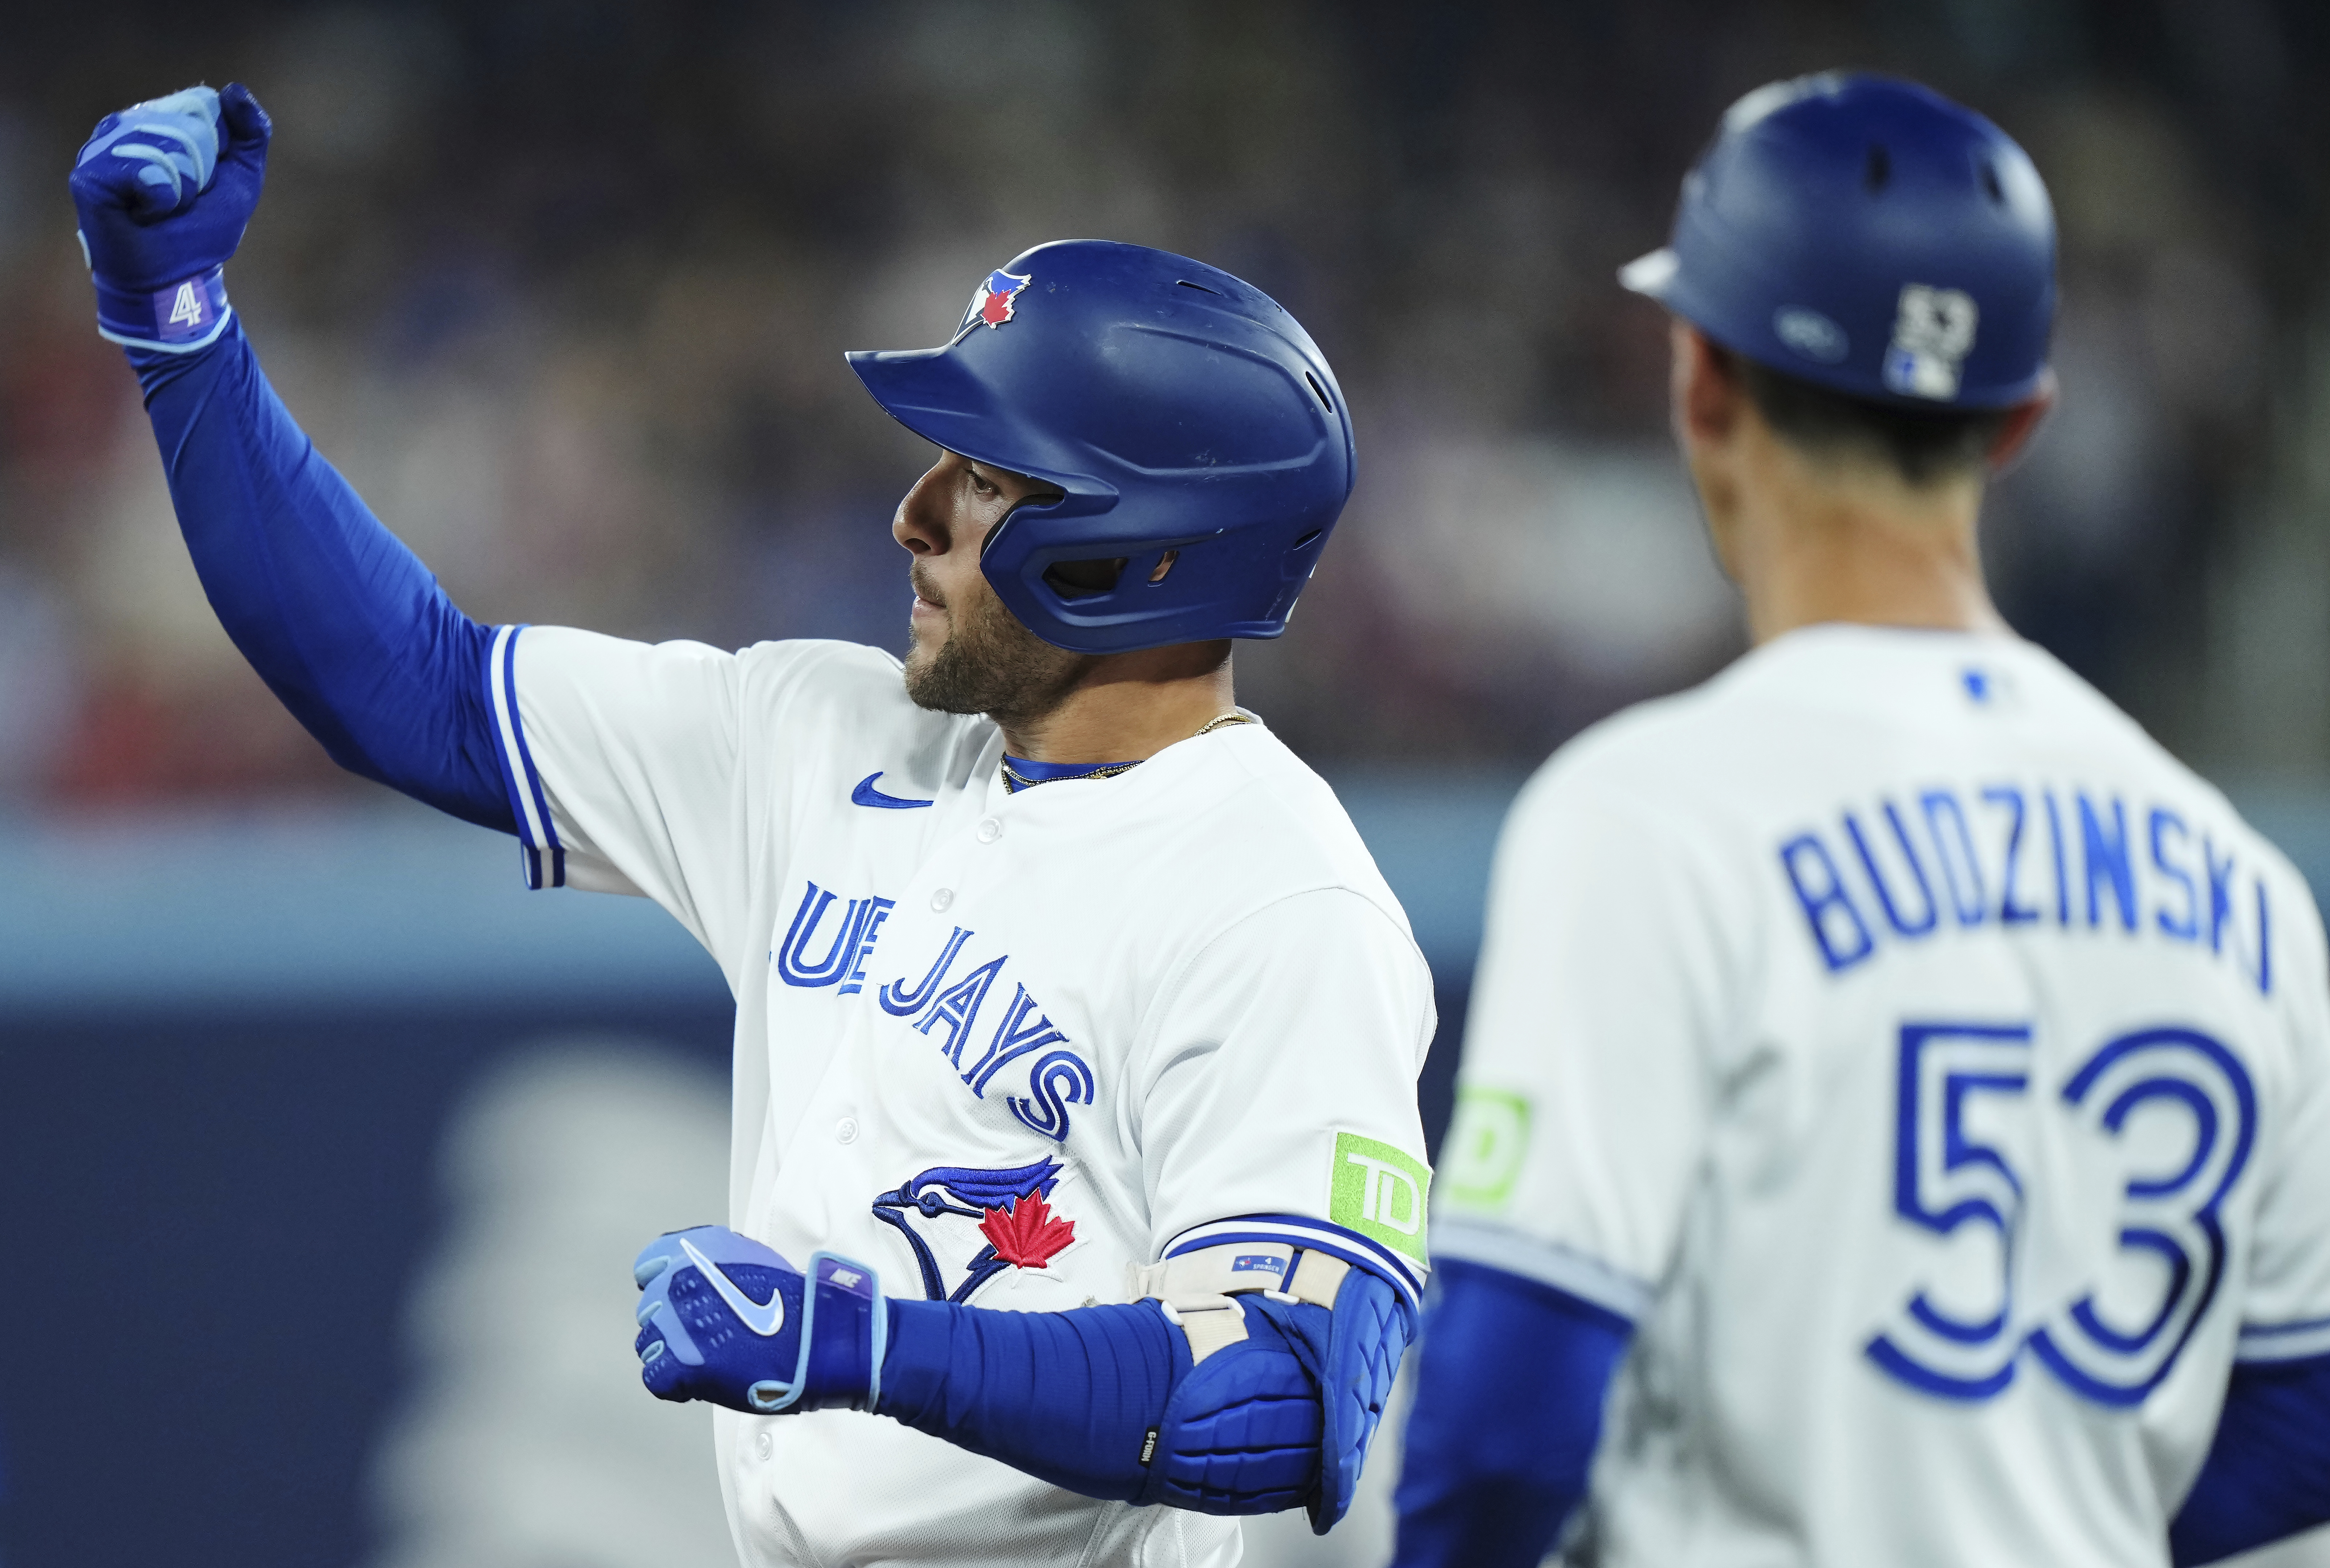
<instances>
[{"instance_id":1,"label":"bare neck and hair of coach below helmet, seen from behind","mask_svg":"<svg viewBox=\"0 0 2330 1568\"><path fill-rule=\"evenodd\" d=\"M2039 412L2034 403L2008 419L1990 468L2020 450ZM1911 485L1876 452L1806 452L1680 322L1673 415L1754 643L1822 622L2006 631L1976 543L1985 473Z\"/></svg>"}]
</instances>

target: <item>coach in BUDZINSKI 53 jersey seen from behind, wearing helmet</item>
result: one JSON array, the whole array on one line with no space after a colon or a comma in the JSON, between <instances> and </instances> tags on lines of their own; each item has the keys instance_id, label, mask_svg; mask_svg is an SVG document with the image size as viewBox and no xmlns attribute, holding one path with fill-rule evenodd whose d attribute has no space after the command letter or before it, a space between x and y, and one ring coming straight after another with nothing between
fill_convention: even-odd
<instances>
[{"instance_id":1,"label":"coach in BUDZINSKI 53 jersey seen from behind, wearing helmet","mask_svg":"<svg viewBox=\"0 0 2330 1568\"><path fill-rule=\"evenodd\" d=\"M1734 105L1624 270L1754 650L1505 825L1398 1563L1570 1521L1612 1568L2130 1568L2330 1517L2318 916L1983 587L2053 273L2022 149L1869 75Z\"/></svg>"}]
</instances>

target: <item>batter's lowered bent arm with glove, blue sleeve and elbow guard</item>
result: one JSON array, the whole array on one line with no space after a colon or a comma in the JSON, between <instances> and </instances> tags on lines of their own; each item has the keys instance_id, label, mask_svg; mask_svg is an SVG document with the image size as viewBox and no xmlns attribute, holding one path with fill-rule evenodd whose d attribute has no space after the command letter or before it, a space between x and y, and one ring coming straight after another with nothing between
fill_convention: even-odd
<instances>
[{"instance_id":1,"label":"batter's lowered bent arm with glove, blue sleeve and elbow guard","mask_svg":"<svg viewBox=\"0 0 2330 1568\"><path fill-rule=\"evenodd\" d=\"M1305 1507L1323 1533L1351 1505L1414 1309L1351 1232L1314 1232L1188 1246L1123 1307L1004 1312L885 1300L864 1263L818 1251L804 1270L694 1226L631 1265L631 1349L664 1400L871 1407L1090 1498Z\"/></svg>"}]
</instances>

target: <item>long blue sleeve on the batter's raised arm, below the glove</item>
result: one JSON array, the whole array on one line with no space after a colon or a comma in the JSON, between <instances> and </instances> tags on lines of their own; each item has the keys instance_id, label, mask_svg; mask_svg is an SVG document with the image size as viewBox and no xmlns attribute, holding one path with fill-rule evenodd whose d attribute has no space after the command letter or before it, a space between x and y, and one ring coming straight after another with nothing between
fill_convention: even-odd
<instances>
[{"instance_id":1,"label":"long blue sleeve on the batter's raised arm, below the glove","mask_svg":"<svg viewBox=\"0 0 2330 1568\"><path fill-rule=\"evenodd\" d=\"M340 767L517 832L494 750L494 634L363 506L284 410L242 317L198 354L130 349L203 592Z\"/></svg>"}]
</instances>

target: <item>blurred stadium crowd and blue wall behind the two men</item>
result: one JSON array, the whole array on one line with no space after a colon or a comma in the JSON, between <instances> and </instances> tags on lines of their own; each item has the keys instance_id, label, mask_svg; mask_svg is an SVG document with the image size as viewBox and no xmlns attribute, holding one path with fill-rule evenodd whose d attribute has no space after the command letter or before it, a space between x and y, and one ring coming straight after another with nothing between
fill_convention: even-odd
<instances>
[{"instance_id":1,"label":"blurred stadium crowd and blue wall behind the two men","mask_svg":"<svg viewBox=\"0 0 2330 1568\"><path fill-rule=\"evenodd\" d=\"M322 450L482 620L897 648L923 452L841 368L1058 235L1272 291L1361 485L1240 697L1442 988L1503 801L1738 648L1610 282L1741 91L1862 63L2048 175L2064 403L2008 617L2330 881L2330 16L2297 0L0 5L0 1563L725 1563L629 1251L711 1216L725 993L652 909L340 778L210 622L63 172L275 114L231 273ZM1389 1475L1379 1463L1377 1472ZM1368 1563L1275 1521L1258 1563ZM2330 1561L2330 1552L2288 1561Z\"/></svg>"}]
</instances>

